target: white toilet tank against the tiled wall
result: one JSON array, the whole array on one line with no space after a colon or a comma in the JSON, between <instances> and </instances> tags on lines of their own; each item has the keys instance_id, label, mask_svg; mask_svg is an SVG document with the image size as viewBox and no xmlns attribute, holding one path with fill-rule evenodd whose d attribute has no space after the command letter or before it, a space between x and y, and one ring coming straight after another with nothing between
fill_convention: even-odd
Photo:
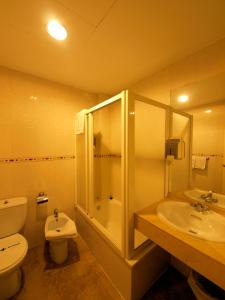
<instances>
[{"instance_id":1,"label":"white toilet tank against the tiled wall","mask_svg":"<svg viewBox=\"0 0 225 300\"><path fill-rule=\"evenodd\" d=\"M19 232L27 216L27 198L0 200L0 238Z\"/></svg>"}]
</instances>

